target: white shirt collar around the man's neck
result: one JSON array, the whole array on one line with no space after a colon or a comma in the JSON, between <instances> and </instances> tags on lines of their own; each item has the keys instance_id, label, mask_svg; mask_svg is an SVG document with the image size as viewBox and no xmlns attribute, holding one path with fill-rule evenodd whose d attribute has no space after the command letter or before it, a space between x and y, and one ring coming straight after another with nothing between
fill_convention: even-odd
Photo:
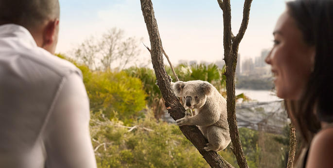
<instances>
[{"instance_id":1,"label":"white shirt collar around the man's neck","mask_svg":"<svg viewBox=\"0 0 333 168\"><path fill-rule=\"evenodd\" d=\"M31 33L25 27L17 24L0 25L0 38L3 37L18 37L32 46L37 46Z\"/></svg>"}]
</instances>

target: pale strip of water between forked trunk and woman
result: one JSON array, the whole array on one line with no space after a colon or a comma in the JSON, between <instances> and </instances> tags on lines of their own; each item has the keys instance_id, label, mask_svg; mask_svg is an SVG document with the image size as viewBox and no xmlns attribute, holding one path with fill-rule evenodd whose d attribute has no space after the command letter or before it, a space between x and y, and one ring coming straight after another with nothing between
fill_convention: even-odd
<instances>
[{"instance_id":1,"label":"pale strip of water between forked trunk and woman","mask_svg":"<svg viewBox=\"0 0 333 168\"><path fill-rule=\"evenodd\" d=\"M253 101L268 102L282 100L276 96L276 94L269 90L245 90L236 89L236 95L244 93L245 96L249 97Z\"/></svg>"}]
</instances>

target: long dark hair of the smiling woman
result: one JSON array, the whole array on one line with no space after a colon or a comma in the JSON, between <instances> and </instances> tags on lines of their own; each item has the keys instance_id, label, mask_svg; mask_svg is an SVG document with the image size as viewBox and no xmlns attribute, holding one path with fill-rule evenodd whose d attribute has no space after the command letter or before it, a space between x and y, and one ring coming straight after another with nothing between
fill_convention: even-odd
<instances>
[{"instance_id":1,"label":"long dark hair of the smiling woman","mask_svg":"<svg viewBox=\"0 0 333 168\"><path fill-rule=\"evenodd\" d=\"M300 133L310 143L320 121L333 122L333 0L287 2L304 41L315 47L315 62L295 110Z\"/></svg>"}]
</instances>

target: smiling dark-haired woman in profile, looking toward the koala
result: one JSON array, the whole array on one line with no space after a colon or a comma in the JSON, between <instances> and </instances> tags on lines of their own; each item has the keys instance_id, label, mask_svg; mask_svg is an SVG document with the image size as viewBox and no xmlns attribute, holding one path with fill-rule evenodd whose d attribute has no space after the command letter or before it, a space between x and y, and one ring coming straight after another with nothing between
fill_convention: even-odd
<instances>
[{"instance_id":1,"label":"smiling dark-haired woman in profile, looking toward the koala","mask_svg":"<svg viewBox=\"0 0 333 168\"><path fill-rule=\"evenodd\" d=\"M265 61L305 140L296 166L333 168L333 0L287 2L273 36Z\"/></svg>"}]
</instances>

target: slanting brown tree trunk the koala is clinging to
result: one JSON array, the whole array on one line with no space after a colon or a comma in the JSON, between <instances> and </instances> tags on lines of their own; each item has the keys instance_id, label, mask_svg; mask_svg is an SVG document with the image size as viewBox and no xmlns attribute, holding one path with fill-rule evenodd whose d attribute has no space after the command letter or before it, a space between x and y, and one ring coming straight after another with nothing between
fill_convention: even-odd
<instances>
[{"instance_id":1,"label":"slanting brown tree trunk the koala is clinging to","mask_svg":"<svg viewBox=\"0 0 333 168\"><path fill-rule=\"evenodd\" d=\"M153 68L158 80L158 87L165 100L165 106L167 107L170 116L172 116L175 120L183 118L185 116L185 109L180 104L178 98L175 96L175 93L171 89L169 76L167 75L164 68L162 42L158 33L158 25L154 15L153 4L151 0L140 0L140 2L143 18L147 26L151 44L150 54ZM207 152L204 150L204 147L208 141L196 126L181 126L180 130L183 132L185 137L193 143L195 148L199 150L200 154L207 161L210 167L233 168L216 152Z\"/></svg>"}]
</instances>

